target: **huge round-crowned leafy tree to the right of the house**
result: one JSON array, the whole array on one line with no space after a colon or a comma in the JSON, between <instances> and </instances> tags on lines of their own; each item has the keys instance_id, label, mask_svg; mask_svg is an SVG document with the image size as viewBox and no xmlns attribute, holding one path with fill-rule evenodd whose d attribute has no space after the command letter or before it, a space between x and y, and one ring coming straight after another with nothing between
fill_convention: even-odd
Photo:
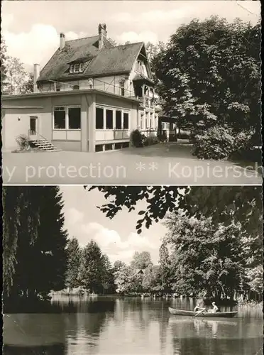
<instances>
[{"instance_id":1,"label":"huge round-crowned leafy tree to the right of the house","mask_svg":"<svg viewBox=\"0 0 264 355\"><path fill-rule=\"evenodd\" d=\"M221 125L260 138L259 23L194 19L177 28L152 66L164 109L177 121L197 132Z\"/></svg>"}]
</instances>

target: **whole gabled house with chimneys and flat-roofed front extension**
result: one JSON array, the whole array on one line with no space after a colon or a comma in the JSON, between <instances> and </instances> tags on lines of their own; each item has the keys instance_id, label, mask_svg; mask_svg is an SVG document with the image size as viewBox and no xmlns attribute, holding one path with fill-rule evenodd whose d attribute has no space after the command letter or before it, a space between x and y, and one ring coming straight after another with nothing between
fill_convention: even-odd
<instances>
[{"instance_id":1,"label":"whole gabled house with chimneys and flat-roofed front extension","mask_svg":"<svg viewBox=\"0 0 264 355\"><path fill-rule=\"evenodd\" d=\"M105 24L92 37L60 33L48 63L34 65L34 92L2 96L3 151L18 136L44 150L125 148L134 129L156 134L157 99L143 42L115 45Z\"/></svg>"}]
</instances>

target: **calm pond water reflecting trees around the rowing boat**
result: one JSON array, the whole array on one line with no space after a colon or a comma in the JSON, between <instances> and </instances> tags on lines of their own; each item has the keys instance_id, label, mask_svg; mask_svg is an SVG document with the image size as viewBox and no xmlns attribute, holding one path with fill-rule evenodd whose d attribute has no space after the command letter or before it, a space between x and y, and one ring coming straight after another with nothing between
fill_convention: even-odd
<instances>
[{"instance_id":1,"label":"calm pond water reflecting trees around the rowing boat","mask_svg":"<svg viewBox=\"0 0 264 355\"><path fill-rule=\"evenodd\" d=\"M194 300L53 297L50 312L4 316L4 354L262 354L260 308L214 320L170 315L168 307L191 310Z\"/></svg>"}]
</instances>

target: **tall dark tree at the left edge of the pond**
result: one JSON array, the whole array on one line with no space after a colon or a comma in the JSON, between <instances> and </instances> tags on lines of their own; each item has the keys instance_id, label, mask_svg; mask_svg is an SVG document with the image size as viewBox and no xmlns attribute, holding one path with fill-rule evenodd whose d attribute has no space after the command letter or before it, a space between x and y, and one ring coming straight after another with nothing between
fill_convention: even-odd
<instances>
[{"instance_id":1,"label":"tall dark tree at the left edge of the pond","mask_svg":"<svg viewBox=\"0 0 264 355\"><path fill-rule=\"evenodd\" d=\"M59 187L5 187L3 200L5 298L12 304L64 288L67 231Z\"/></svg>"}]
</instances>

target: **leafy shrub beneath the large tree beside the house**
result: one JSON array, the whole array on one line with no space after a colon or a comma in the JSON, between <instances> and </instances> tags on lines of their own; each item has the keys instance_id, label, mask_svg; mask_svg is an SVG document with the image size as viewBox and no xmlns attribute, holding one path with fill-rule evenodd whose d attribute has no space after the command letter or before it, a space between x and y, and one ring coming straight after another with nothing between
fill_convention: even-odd
<instances>
[{"instance_id":1,"label":"leafy shrub beneath the large tree beside the house","mask_svg":"<svg viewBox=\"0 0 264 355\"><path fill-rule=\"evenodd\" d=\"M202 159L227 159L231 154L246 147L252 132L233 133L223 126L214 126L192 138L192 154Z\"/></svg>"}]
</instances>

